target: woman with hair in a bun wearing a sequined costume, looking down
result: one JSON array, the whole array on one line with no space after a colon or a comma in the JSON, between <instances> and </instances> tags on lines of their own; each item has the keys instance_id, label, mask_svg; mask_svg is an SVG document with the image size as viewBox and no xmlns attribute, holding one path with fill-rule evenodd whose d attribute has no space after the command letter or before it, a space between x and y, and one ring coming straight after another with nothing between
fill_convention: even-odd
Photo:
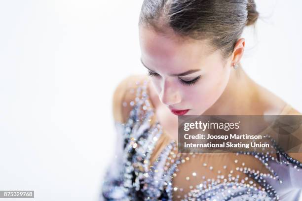
<instances>
[{"instance_id":1,"label":"woman with hair in a bun wearing a sequined costume, looking down","mask_svg":"<svg viewBox=\"0 0 302 201\"><path fill-rule=\"evenodd\" d=\"M120 136L101 200L299 199L300 153L177 151L178 115L301 115L240 65L241 33L257 18L253 0L144 0L141 61L150 77L130 76L114 92Z\"/></svg>"}]
</instances>

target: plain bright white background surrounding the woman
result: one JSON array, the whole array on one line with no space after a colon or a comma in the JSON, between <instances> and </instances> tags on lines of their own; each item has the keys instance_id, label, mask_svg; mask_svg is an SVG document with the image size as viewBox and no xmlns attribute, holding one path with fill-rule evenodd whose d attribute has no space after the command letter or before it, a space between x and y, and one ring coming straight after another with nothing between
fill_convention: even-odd
<instances>
[{"instance_id":1,"label":"plain bright white background surrounding the woman","mask_svg":"<svg viewBox=\"0 0 302 201\"><path fill-rule=\"evenodd\" d=\"M146 73L141 3L0 0L0 190L97 201L113 157L113 90ZM261 17L244 33L243 67L302 112L302 1L256 3Z\"/></svg>"}]
</instances>

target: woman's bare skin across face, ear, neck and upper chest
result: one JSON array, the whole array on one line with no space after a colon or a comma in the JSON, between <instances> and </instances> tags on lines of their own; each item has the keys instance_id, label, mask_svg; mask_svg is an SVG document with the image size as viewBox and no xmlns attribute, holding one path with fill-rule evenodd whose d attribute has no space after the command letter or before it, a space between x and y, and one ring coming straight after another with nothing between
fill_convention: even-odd
<instances>
[{"instance_id":1,"label":"woman's bare skin across face, ear, neck and upper chest","mask_svg":"<svg viewBox=\"0 0 302 201\"><path fill-rule=\"evenodd\" d=\"M207 40L181 38L166 28L164 34L140 26L141 60L155 72L149 85L156 116L164 130L177 140L178 116L170 109L189 109L185 115L278 115L286 102L255 83L239 67L245 39L240 38L228 58ZM200 69L186 76L171 76ZM200 75L190 86L189 81Z\"/></svg>"}]
</instances>

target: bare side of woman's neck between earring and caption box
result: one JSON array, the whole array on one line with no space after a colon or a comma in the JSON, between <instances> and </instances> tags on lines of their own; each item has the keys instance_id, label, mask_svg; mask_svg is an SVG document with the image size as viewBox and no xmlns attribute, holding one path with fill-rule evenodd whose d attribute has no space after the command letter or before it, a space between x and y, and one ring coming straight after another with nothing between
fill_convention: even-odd
<instances>
[{"instance_id":1,"label":"bare side of woman's neck between earring and caption box","mask_svg":"<svg viewBox=\"0 0 302 201\"><path fill-rule=\"evenodd\" d=\"M202 115L261 115L258 85L244 72L241 65L232 70L221 97Z\"/></svg>"}]
</instances>

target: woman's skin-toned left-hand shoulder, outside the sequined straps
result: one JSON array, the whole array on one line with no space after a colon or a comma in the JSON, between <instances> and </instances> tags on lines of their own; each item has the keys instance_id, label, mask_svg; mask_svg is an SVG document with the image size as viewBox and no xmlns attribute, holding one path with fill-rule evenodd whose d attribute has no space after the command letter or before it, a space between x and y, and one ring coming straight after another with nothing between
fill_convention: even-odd
<instances>
[{"instance_id":1,"label":"woman's skin-toned left-hand shoulder, outside the sequined straps","mask_svg":"<svg viewBox=\"0 0 302 201\"><path fill-rule=\"evenodd\" d=\"M135 100L136 90L147 79L148 75L134 74L125 77L117 84L112 99L114 121L125 123L133 108L131 101Z\"/></svg>"}]
</instances>

